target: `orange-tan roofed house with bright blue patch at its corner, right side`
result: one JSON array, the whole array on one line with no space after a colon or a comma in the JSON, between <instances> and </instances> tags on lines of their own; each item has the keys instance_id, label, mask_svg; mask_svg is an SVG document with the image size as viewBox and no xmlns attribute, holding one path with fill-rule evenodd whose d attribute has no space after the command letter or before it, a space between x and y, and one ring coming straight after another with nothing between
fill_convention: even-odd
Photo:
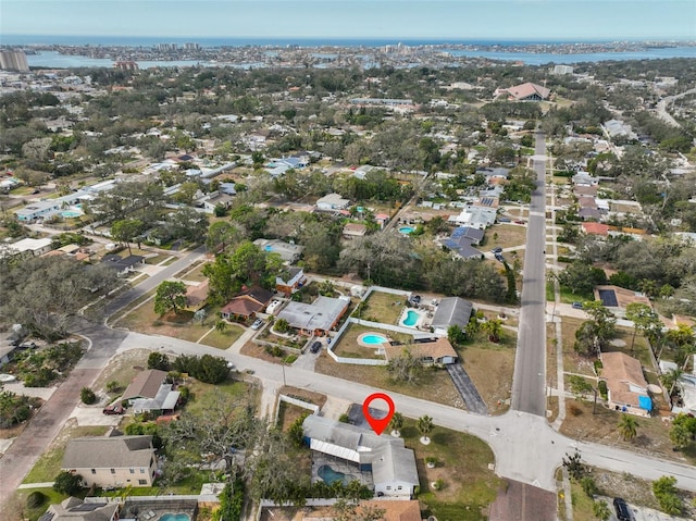
<instances>
[{"instance_id":1,"label":"orange-tan roofed house with bright blue patch at its corner, right side","mask_svg":"<svg viewBox=\"0 0 696 521\"><path fill-rule=\"evenodd\" d=\"M601 353L601 374L607 382L609 407L642 417L650 415L652 400L641 362L623 352Z\"/></svg>"}]
</instances>

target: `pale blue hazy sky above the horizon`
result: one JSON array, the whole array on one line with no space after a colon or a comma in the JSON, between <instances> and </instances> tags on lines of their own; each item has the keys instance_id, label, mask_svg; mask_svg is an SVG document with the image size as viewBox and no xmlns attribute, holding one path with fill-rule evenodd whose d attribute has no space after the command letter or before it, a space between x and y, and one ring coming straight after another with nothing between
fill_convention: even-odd
<instances>
[{"instance_id":1,"label":"pale blue hazy sky above the horizon","mask_svg":"<svg viewBox=\"0 0 696 521\"><path fill-rule=\"evenodd\" d=\"M696 0L0 0L11 35L696 40Z\"/></svg>"}]
</instances>

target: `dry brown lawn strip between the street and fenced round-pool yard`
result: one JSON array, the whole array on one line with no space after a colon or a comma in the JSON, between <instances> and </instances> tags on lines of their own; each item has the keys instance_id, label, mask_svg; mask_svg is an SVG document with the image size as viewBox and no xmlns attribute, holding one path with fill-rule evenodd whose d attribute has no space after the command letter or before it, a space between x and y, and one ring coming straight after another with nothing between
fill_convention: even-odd
<instances>
[{"instance_id":1,"label":"dry brown lawn strip between the street and fenced round-pool yard","mask_svg":"<svg viewBox=\"0 0 696 521\"><path fill-rule=\"evenodd\" d=\"M360 382L378 389L393 390L407 396L464 409L463 400L445 370L426 369L417 383L395 382L386 367L352 365L335 362L326 352L316 359L314 371L351 382Z\"/></svg>"}]
</instances>

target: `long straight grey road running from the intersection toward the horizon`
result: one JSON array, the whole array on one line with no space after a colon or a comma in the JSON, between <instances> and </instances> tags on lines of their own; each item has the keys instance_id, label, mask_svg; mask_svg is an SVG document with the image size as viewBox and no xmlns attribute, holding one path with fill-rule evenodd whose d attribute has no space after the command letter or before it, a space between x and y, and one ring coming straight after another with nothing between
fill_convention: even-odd
<instances>
[{"instance_id":1,"label":"long straight grey road running from the intersection toward the horizon","mask_svg":"<svg viewBox=\"0 0 696 521\"><path fill-rule=\"evenodd\" d=\"M546 415L546 142L536 134L535 189L526 227L522 307L512 379L512 409Z\"/></svg>"}]
</instances>

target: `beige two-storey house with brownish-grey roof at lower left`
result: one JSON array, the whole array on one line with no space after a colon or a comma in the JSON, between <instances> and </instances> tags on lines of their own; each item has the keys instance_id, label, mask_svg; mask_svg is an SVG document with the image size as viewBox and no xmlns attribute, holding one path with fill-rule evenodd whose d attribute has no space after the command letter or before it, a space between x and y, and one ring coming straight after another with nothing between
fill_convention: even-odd
<instances>
[{"instance_id":1,"label":"beige two-storey house with brownish-grey roof at lower left","mask_svg":"<svg viewBox=\"0 0 696 521\"><path fill-rule=\"evenodd\" d=\"M87 436L67 442L61 470L89 486L152 486L157 459L152 436Z\"/></svg>"}]
</instances>

